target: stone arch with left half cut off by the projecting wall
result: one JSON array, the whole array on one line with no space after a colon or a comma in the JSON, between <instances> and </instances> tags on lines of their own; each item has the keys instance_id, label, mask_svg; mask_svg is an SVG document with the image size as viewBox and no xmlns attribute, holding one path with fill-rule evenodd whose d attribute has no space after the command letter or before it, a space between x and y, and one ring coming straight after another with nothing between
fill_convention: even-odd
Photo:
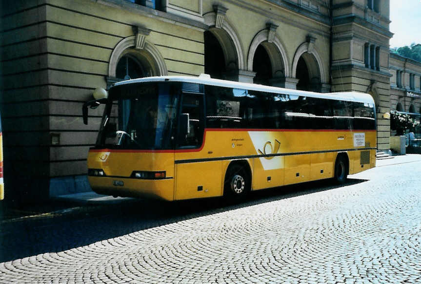
<instances>
[{"instance_id":1,"label":"stone arch with left half cut off by the projecting wall","mask_svg":"<svg viewBox=\"0 0 421 284\"><path fill-rule=\"evenodd\" d=\"M221 28L217 28L217 14L209 12L203 15L203 20L210 31L220 42L224 52L227 70L244 70L244 52L237 31L225 18Z\"/></svg>"}]
</instances>

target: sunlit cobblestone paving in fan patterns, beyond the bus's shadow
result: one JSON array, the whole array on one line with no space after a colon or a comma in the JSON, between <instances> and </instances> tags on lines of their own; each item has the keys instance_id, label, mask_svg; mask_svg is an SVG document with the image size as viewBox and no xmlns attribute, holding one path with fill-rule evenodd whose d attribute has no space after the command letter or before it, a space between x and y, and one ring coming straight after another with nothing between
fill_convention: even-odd
<instances>
[{"instance_id":1,"label":"sunlit cobblestone paving in fan patterns, beyond the bus's shadow","mask_svg":"<svg viewBox=\"0 0 421 284\"><path fill-rule=\"evenodd\" d=\"M360 183L0 263L0 283L421 283L421 158L399 161Z\"/></svg>"}]
</instances>

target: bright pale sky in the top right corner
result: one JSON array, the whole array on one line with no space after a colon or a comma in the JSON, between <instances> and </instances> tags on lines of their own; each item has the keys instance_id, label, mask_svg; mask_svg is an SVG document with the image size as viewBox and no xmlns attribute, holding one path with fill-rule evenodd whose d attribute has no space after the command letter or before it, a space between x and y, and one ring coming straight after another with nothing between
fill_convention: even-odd
<instances>
[{"instance_id":1,"label":"bright pale sky in the top right corner","mask_svg":"<svg viewBox=\"0 0 421 284\"><path fill-rule=\"evenodd\" d=\"M390 0L390 47L421 43L421 0Z\"/></svg>"}]
</instances>

